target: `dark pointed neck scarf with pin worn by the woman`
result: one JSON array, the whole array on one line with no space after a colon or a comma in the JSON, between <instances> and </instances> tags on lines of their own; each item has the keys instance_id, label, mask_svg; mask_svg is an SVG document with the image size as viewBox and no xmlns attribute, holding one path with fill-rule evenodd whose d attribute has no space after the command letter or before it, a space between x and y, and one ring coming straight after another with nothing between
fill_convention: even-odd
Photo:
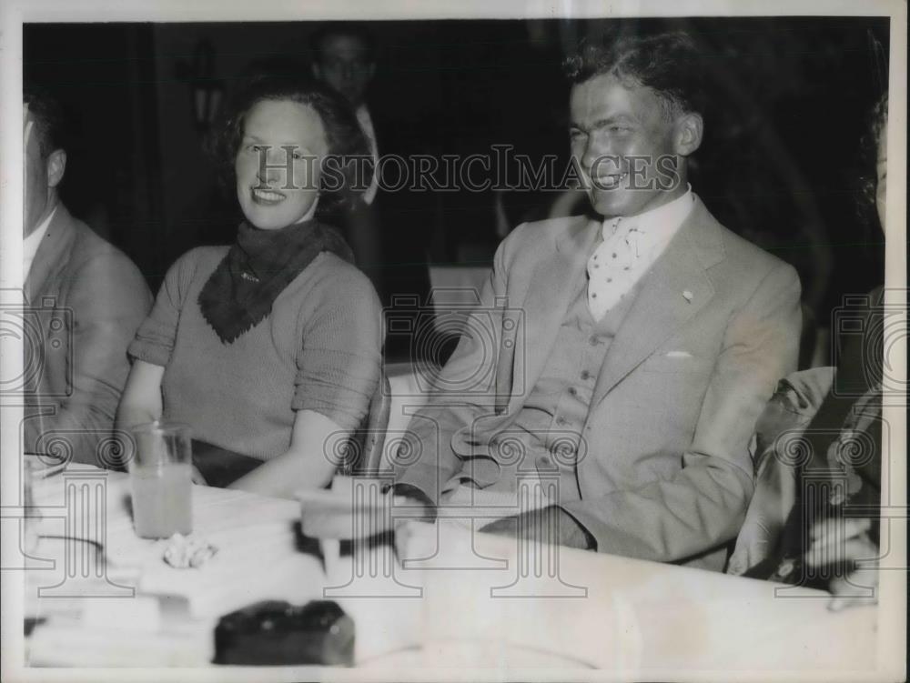
<instances>
[{"instance_id":1,"label":"dark pointed neck scarf with pin worn by the woman","mask_svg":"<svg viewBox=\"0 0 910 683\"><path fill-rule=\"evenodd\" d=\"M202 315L230 344L262 322L284 288L323 251L354 262L344 238L315 220L279 230L241 223L237 242L199 292Z\"/></svg>"}]
</instances>

